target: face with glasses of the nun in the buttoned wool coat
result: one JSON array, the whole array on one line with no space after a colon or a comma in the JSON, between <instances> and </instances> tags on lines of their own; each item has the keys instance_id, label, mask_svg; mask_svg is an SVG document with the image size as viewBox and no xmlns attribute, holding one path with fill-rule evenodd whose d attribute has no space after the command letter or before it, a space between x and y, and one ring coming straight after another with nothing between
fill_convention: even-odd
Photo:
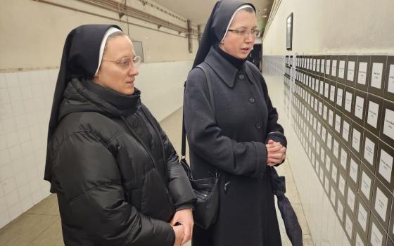
<instances>
[{"instance_id":1,"label":"face with glasses of the nun in the buttoned wool coat","mask_svg":"<svg viewBox=\"0 0 394 246\"><path fill-rule=\"evenodd\" d=\"M220 48L236 58L244 59L248 57L255 43L255 36L251 31L256 28L257 21L255 13L239 11L234 16L229 30L246 30L246 34L241 35L231 31L227 32L226 37L224 37L224 40L220 44Z\"/></svg>"}]
</instances>

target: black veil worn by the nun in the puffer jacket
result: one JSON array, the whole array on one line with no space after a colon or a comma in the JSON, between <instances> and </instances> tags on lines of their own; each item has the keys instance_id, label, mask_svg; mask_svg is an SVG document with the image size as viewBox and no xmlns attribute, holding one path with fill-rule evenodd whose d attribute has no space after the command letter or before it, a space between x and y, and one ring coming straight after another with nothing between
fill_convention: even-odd
<instances>
[{"instance_id":1,"label":"black veil worn by the nun in the puffer jacket","mask_svg":"<svg viewBox=\"0 0 394 246\"><path fill-rule=\"evenodd\" d=\"M110 27L121 30L117 25L82 25L72 30L65 39L49 119L47 143L51 141L58 126L59 105L63 101L68 82L73 78L93 79L98 66L101 41ZM47 150L44 179L51 181L52 164L48 154Z\"/></svg>"}]
</instances>

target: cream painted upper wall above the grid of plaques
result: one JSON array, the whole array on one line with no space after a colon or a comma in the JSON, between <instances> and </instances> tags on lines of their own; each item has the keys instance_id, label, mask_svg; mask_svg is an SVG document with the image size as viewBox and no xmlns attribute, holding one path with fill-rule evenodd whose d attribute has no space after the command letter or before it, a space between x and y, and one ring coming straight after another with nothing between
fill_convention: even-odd
<instances>
[{"instance_id":1,"label":"cream painted upper wall above the grid of plaques","mask_svg":"<svg viewBox=\"0 0 394 246\"><path fill-rule=\"evenodd\" d=\"M265 56L394 53L391 0L281 0L263 40ZM293 12L293 51L286 51L286 18Z\"/></svg>"}]
</instances>

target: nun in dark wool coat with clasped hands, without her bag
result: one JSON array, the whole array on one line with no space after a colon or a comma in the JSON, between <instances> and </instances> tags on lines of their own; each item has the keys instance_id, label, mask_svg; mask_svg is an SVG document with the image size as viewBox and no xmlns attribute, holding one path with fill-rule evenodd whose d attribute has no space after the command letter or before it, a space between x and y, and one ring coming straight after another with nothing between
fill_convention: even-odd
<instances>
[{"instance_id":1,"label":"nun in dark wool coat with clasped hands, without her bag","mask_svg":"<svg viewBox=\"0 0 394 246\"><path fill-rule=\"evenodd\" d=\"M252 4L218 1L187 78L184 120L194 178L220 173L217 221L208 230L194 226L193 246L281 245L270 172L284 162L287 142L264 78L246 61L257 28Z\"/></svg>"}]
</instances>

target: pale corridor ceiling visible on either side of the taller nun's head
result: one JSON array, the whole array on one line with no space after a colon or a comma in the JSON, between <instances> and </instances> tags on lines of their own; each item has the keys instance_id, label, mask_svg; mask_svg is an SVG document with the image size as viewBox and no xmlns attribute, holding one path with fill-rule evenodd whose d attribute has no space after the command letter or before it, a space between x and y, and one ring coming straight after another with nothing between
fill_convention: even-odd
<instances>
[{"instance_id":1,"label":"pale corridor ceiling visible on either side of the taller nun's head","mask_svg":"<svg viewBox=\"0 0 394 246\"><path fill-rule=\"evenodd\" d=\"M168 10L191 20L196 25L205 25L212 11L216 0L153 0L155 3L167 8ZM222 0L227 1L227 0ZM258 18L258 27L260 30L265 29L269 12L271 11L274 0L246 0L256 8Z\"/></svg>"}]
</instances>

